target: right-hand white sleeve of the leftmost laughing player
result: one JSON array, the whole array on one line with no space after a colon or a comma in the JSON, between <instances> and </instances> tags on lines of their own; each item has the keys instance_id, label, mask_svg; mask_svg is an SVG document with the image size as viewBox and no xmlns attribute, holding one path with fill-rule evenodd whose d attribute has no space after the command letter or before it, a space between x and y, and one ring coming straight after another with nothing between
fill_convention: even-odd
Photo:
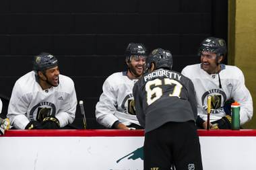
<instances>
[{"instance_id":1,"label":"right-hand white sleeve of the leftmost laughing player","mask_svg":"<svg viewBox=\"0 0 256 170\"><path fill-rule=\"evenodd\" d=\"M61 128L64 126L67 126L67 124L71 124L75 119L77 97L75 93L75 85L72 80L71 80L70 89L71 91L68 95L69 97L67 97L66 102L63 105L61 105L61 109L55 115L56 118L59 120L59 124Z\"/></svg>"}]
</instances>

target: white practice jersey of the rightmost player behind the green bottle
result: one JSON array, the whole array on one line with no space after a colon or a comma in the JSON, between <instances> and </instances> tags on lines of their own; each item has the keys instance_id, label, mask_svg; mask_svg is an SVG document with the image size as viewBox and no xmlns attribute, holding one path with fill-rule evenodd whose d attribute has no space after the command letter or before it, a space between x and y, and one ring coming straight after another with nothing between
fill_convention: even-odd
<instances>
[{"instance_id":1,"label":"white practice jersey of the rightmost player behind the green bottle","mask_svg":"<svg viewBox=\"0 0 256 170\"><path fill-rule=\"evenodd\" d=\"M240 119L241 124L251 120L253 116L253 100L247 87L245 87L245 77L238 67L221 65L220 89L218 74L209 75L201 69L201 64L189 65L181 72L191 79L195 86L197 95L197 112L204 120L207 120L207 96L212 96L212 111L210 122L219 120L226 116L224 112L224 103L228 99L234 99L241 104Z\"/></svg>"}]
</instances>

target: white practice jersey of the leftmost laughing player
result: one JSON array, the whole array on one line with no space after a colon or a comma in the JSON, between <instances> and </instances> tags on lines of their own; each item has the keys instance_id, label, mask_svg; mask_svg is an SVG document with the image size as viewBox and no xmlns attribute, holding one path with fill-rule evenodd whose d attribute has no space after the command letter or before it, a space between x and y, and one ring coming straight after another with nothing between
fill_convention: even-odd
<instances>
[{"instance_id":1,"label":"white practice jersey of the leftmost laughing player","mask_svg":"<svg viewBox=\"0 0 256 170\"><path fill-rule=\"evenodd\" d=\"M24 129L30 120L37 120L42 108L46 108L63 127L73 122L76 105L74 83L69 77L59 75L57 87L43 90L34 71L31 71L15 82L7 118L15 128Z\"/></svg>"}]
</instances>

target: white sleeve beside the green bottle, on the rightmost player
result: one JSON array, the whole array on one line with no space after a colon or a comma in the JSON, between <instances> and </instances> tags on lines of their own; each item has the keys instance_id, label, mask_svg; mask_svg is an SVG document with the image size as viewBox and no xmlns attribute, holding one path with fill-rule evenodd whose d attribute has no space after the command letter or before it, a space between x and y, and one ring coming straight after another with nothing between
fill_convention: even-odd
<instances>
[{"instance_id":1,"label":"white sleeve beside the green bottle, on the rightmost player","mask_svg":"<svg viewBox=\"0 0 256 170\"><path fill-rule=\"evenodd\" d=\"M232 92L232 97L241 105L241 125L245 124L245 122L248 122L253 117L253 99L251 93L245 86L245 77L240 69L238 69L238 81Z\"/></svg>"}]
</instances>

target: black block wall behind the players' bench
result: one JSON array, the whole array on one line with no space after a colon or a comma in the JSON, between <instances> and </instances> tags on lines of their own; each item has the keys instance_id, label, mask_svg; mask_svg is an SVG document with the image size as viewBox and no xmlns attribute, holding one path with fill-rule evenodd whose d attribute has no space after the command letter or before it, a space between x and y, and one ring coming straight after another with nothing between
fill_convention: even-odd
<instances>
[{"instance_id":1,"label":"black block wall behind the players' bench","mask_svg":"<svg viewBox=\"0 0 256 170\"><path fill-rule=\"evenodd\" d=\"M166 48L174 70L199 62L207 36L227 39L228 0L1 0L0 97L7 112L15 81L32 70L32 56L55 54L63 75L85 100L88 128L108 75L126 69L129 42ZM82 127L77 108L75 126Z\"/></svg>"}]
</instances>

